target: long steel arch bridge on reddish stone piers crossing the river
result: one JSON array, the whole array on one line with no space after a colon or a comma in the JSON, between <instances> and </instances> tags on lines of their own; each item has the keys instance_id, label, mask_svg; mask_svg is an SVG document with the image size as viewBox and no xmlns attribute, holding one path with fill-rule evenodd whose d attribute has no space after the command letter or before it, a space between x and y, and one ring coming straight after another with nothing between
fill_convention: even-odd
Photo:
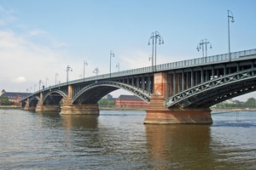
<instances>
[{"instance_id":1,"label":"long steel arch bridge on reddish stone piers crossing the river","mask_svg":"<svg viewBox=\"0 0 256 170\"><path fill-rule=\"evenodd\" d=\"M22 99L21 106L98 115L97 101L117 89L148 102L144 123L212 123L212 105L256 90L256 48L64 82Z\"/></svg>"}]
</instances>

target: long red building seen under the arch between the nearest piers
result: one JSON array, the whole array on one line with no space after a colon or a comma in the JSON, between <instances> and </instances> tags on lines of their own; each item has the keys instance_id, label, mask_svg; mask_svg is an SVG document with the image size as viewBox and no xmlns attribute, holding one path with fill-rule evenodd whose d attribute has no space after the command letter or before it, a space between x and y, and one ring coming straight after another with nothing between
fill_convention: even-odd
<instances>
[{"instance_id":1,"label":"long red building seen under the arch between the nearest piers","mask_svg":"<svg viewBox=\"0 0 256 170\"><path fill-rule=\"evenodd\" d=\"M135 95L120 95L119 98L115 100L116 107L132 107L132 108L142 108L147 107L148 103L143 99L138 98Z\"/></svg>"}]
</instances>

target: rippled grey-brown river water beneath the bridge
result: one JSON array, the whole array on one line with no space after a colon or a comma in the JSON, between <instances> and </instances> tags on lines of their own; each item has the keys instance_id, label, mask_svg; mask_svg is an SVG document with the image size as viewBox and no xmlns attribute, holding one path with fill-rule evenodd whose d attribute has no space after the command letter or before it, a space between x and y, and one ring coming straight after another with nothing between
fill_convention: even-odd
<instances>
[{"instance_id":1,"label":"rippled grey-brown river water beneath the bridge","mask_svg":"<svg viewBox=\"0 0 256 170\"><path fill-rule=\"evenodd\" d=\"M0 110L0 169L256 169L256 112L144 125L144 111Z\"/></svg>"}]
</instances>

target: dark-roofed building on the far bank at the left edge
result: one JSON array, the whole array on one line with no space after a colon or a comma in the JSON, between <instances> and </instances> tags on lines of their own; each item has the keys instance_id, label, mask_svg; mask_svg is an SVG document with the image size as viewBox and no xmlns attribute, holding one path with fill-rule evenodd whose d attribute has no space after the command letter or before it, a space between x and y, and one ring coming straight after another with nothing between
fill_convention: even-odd
<instances>
[{"instance_id":1,"label":"dark-roofed building on the far bank at the left edge","mask_svg":"<svg viewBox=\"0 0 256 170\"><path fill-rule=\"evenodd\" d=\"M3 89L0 98L7 97L10 102L14 102L15 105L20 105L20 100L26 98L29 93L17 93L17 92L5 92Z\"/></svg>"}]
</instances>

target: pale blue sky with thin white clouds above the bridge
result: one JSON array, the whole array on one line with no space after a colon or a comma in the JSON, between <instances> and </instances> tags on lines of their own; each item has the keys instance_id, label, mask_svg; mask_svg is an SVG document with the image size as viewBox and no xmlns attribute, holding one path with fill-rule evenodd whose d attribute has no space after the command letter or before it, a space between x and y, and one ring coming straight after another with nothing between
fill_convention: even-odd
<instances>
[{"instance_id":1,"label":"pale blue sky with thin white clouds above the bridge","mask_svg":"<svg viewBox=\"0 0 256 170\"><path fill-rule=\"evenodd\" d=\"M254 0L0 0L0 89L34 92L81 77L150 66L148 40L159 31L157 64L256 48ZM88 65L84 67L84 60ZM85 73L84 73L85 68ZM47 84L46 84L47 82ZM238 97L245 100L255 93ZM118 95L118 93L113 93ZM118 97L118 96L114 96Z\"/></svg>"}]
</instances>

